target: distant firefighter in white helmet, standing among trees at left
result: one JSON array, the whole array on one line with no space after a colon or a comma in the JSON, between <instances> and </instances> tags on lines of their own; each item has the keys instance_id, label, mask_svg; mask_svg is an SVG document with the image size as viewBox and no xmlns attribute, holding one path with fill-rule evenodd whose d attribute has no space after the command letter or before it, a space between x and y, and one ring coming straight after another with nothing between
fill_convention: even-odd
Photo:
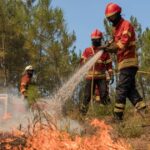
<instances>
[{"instance_id":1,"label":"distant firefighter in white helmet, standing among trees at left","mask_svg":"<svg viewBox=\"0 0 150 150\"><path fill-rule=\"evenodd\" d=\"M25 67L20 83L20 93L23 95L24 98L27 98L27 90L31 83L33 73L34 69L31 65Z\"/></svg>"}]
</instances>

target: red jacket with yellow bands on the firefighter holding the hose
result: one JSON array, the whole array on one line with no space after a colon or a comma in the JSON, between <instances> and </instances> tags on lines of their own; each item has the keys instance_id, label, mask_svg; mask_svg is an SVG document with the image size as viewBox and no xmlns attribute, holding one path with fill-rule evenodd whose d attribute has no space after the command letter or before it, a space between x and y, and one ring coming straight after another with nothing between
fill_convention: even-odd
<instances>
[{"instance_id":1,"label":"red jacket with yellow bands on the firefighter holding the hose","mask_svg":"<svg viewBox=\"0 0 150 150\"><path fill-rule=\"evenodd\" d=\"M118 69L138 67L135 31L131 23L122 18L114 27L113 35L118 47Z\"/></svg>"}]
</instances>

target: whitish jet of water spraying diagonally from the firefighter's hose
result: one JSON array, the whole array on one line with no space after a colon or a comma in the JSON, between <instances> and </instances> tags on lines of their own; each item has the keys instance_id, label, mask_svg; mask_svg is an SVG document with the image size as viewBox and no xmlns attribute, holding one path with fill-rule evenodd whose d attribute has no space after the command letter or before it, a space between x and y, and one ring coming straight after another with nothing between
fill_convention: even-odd
<instances>
[{"instance_id":1,"label":"whitish jet of water spraying diagonally from the firefighter's hose","mask_svg":"<svg viewBox=\"0 0 150 150\"><path fill-rule=\"evenodd\" d=\"M71 98L75 88L85 77L88 70L93 66L97 59L102 55L103 51L97 52L86 64L84 64L77 72L75 72L66 83L50 98L49 106L54 105L53 115L60 116L62 105ZM50 110L50 109L48 109Z\"/></svg>"}]
</instances>

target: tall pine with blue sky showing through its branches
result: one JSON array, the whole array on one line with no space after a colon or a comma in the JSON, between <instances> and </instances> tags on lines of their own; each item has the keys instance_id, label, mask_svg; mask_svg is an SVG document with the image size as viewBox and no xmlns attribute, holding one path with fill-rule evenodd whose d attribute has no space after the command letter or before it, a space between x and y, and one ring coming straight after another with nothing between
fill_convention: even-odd
<instances>
[{"instance_id":1,"label":"tall pine with blue sky showing through its branches","mask_svg":"<svg viewBox=\"0 0 150 150\"><path fill-rule=\"evenodd\" d=\"M42 91L52 91L68 77L73 66L75 33L68 33L63 11L52 8L50 0L39 0L32 8L32 24L28 29L31 63L36 66L37 83Z\"/></svg>"}]
</instances>

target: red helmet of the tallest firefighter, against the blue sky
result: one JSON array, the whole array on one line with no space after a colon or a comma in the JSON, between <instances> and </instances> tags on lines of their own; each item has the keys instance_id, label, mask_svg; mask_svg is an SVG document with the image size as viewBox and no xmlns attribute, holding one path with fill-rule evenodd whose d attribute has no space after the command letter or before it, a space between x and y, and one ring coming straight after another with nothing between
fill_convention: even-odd
<instances>
[{"instance_id":1,"label":"red helmet of the tallest firefighter, against the blue sky","mask_svg":"<svg viewBox=\"0 0 150 150\"><path fill-rule=\"evenodd\" d=\"M105 16L110 17L116 13L121 13L121 7L115 3L109 3L105 9Z\"/></svg>"}]
</instances>

